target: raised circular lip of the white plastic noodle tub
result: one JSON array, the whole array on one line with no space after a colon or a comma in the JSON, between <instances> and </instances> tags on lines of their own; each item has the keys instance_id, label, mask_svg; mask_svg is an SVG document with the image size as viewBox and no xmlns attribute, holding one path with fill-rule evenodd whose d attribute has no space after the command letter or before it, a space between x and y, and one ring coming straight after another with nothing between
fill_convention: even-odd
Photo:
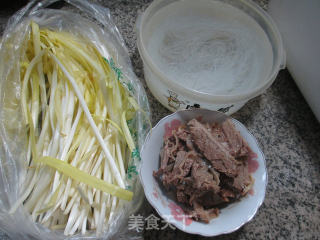
<instances>
[{"instance_id":1,"label":"raised circular lip of the white plastic noodle tub","mask_svg":"<svg viewBox=\"0 0 320 240\"><path fill-rule=\"evenodd\" d=\"M259 86L249 89L242 94L234 94L234 95L213 95L208 93L203 93L199 91L195 91L189 88L186 88L182 84L173 81L168 78L157 66L154 64L151 56L149 55L147 48L144 44L143 39L143 31L147 24L148 17L152 17L159 9L164 6L179 0L155 0L153 1L149 7L145 10L145 12L138 18L137 20L137 45L143 60L143 64L145 68L149 68L152 73L160 79L164 85L168 87L168 89L177 92L184 96L185 98L190 98L199 102L208 102L212 104L235 104L238 102L246 102L249 99L258 96L263 91L265 91L268 87L271 86L273 81L275 80L280 69L285 67L286 57L285 51L283 48L282 38L280 32L274 23L273 19L256 3L250 0L229 0L224 1L232 6L245 11L248 15L250 15L256 22L264 29L266 32L271 46L273 48L273 67L269 76L265 77L265 81L262 82ZM217 0L212 0L217 1ZM223 0L220 0L223 1ZM200 1L199 1L200 2ZM169 107L170 109L170 107ZM172 110L172 109L171 109Z\"/></svg>"}]
</instances>

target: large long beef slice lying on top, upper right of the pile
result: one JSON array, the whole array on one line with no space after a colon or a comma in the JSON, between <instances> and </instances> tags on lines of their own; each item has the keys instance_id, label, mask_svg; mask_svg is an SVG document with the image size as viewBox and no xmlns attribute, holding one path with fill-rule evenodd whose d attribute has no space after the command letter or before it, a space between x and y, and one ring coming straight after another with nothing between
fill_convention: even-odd
<instances>
[{"instance_id":1,"label":"large long beef slice lying on top, upper right of the pile","mask_svg":"<svg viewBox=\"0 0 320 240\"><path fill-rule=\"evenodd\" d=\"M212 166L219 172L235 177L237 161L228 149L212 135L211 128L206 128L196 119L189 121L188 126L195 144Z\"/></svg>"}]
</instances>

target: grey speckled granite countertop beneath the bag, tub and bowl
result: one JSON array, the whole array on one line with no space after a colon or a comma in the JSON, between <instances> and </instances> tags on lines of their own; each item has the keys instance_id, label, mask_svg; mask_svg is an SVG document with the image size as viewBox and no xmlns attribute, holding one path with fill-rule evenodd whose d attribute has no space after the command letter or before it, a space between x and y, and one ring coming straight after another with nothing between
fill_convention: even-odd
<instances>
[{"instance_id":1,"label":"grey speckled granite countertop beneath the bag, tub and bowl","mask_svg":"<svg viewBox=\"0 0 320 240\"><path fill-rule=\"evenodd\" d=\"M148 0L98 1L111 9L128 46L134 71L145 85L134 24ZM256 0L264 9L267 0ZM13 10L0 10L1 30ZM146 87L147 89L147 87ZM170 112L147 89L156 124ZM287 70L273 85L250 100L232 117L257 138L267 162L266 198L257 215L234 233L212 239L319 239L320 238L320 124ZM148 214L156 214L146 202ZM144 230L144 239L204 239L180 230ZM0 239L7 239L0 234Z\"/></svg>"}]
</instances>

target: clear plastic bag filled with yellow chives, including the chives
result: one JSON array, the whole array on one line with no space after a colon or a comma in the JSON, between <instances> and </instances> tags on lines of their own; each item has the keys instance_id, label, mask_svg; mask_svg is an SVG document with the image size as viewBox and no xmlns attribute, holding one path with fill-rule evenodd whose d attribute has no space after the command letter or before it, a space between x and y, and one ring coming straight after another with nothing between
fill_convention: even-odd
<instances>
[{"instance_id":1,"label":"clear plastic bag filled with yellow chives, including the chives","mask_svg":"<svg viewBox=\"0 0 320 240\"><path fill-rule=\"evenodd\" d=\"M17 12L0 46L0 228L13 239L107 239L143 201L148 101L109 11L53 2Z\"/></svg>"}]
</instances>

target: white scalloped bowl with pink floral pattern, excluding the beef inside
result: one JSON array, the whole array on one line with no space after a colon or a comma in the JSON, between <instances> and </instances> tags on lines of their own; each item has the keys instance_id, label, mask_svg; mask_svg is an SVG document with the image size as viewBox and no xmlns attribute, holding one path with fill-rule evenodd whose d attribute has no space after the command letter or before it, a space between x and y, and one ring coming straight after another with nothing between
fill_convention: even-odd
<instances>
[{"instance_id":1,"label":"white scalloped bowl with pink floral pattern, excluding the beef inside","mask_svg":"<svg viewBox=\"0 0 320 240\"><path fill-rule=\"evenodd\" d=\"M236 129L255 153L254 157L249 160L249 172L255 180L254 186L249 194L241 198L240 201L222 208L219 216L213 218L209 223L202 223L189 218L179 204L160 188L158 181L153 176L153 171L157 171L159 168L159 156L163 146L164 135L181 123L197 117L201 117L204 122L221 122L227 118L226 115L220 112L192 109L178 111L161 119L147 136L141 150L140 180L148 201L168 223L184 232L203 236L230 233L239 229L253 218L264 200L267 186L264 155L256 139L240 122L231 119Z\"/></svg>"}]
</instances>

